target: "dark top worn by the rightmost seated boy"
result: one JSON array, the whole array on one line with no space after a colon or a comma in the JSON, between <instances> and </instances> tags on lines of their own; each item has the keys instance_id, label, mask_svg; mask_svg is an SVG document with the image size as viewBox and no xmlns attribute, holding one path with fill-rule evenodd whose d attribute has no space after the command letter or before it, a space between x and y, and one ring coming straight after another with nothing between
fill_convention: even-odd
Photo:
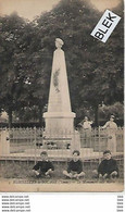
<instances>
[{"instance_id":1,"label":"dark top worn by the rightmost seated boy","mask_svg":"<svg viewBox=\"0 0 125 212\"><path fill-rule=\"evenodd\" d=\"M98 174L102 175L110 175L114 171L116 171L118 174L118 167L114 159L103 160L98 167Z\"/></svg>"}]
</instances>

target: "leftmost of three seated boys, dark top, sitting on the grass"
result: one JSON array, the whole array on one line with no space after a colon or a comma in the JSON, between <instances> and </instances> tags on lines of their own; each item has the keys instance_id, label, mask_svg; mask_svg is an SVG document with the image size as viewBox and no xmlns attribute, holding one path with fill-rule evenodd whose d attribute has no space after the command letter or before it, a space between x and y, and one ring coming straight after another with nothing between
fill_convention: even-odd
<instances>
[{"instance_id":1,"label":"leftmost of three seated boys, dark top, sitting on the grass","mask_svg":"<svg viewBox=\"0 0 125 212\"><path fill-rule=\"evenodd\" d=\"M40 153L41 161L38 161L37 164L33 167L33 172L37 177L47 176L50 177L54 171L53 164L48 160L48 154L46 151Z\"/></svg>"}]
</instances>

